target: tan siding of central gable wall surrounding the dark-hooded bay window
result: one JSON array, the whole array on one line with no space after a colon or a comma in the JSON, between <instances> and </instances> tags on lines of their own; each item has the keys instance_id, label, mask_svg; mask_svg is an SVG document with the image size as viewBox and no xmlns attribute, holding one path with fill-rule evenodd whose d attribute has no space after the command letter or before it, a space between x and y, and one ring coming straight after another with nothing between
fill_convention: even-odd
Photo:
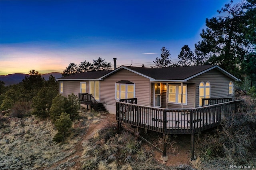
<instances>
[{"instance_id":1,"label":"tan siding of central gable wall surrounding the dark-hooded bay window","mask_svg":"<svg viewBox=\"0 0 256 170\"><path fill-rule=\"evenodd\" d=\"M135 86L135 98L137 98L138 105L150 106L150 81L148 78L121 69L120 71L106 77L103 81L100 81L100 102L106 105L106 108L110 113L115 114L116 105L116 82L120 80L128 80L134 83ZM108 106L111 105L111 106ZM114 108L114 109L113 109Z\"/></svg>"}]
</instances>

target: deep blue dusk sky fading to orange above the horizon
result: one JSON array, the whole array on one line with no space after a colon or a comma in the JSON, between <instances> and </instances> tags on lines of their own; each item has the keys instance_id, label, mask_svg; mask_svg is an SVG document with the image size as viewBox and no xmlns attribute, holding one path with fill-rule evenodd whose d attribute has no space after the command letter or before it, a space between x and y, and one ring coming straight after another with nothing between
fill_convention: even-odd
<instances>
[{"instance_id":1,"label":"deep blue dusk sky fading to orange above the horizon","mask_svg":"<svg viewBox=\"0 0 256 170\"><path fill-rule=\"evenodd\" d=\"M62 72L98 57L150 67L164 46L177 62L182 46L194 51L206 18L229 2L1 0L0 75Z\"/></svg>"}]
</instances>

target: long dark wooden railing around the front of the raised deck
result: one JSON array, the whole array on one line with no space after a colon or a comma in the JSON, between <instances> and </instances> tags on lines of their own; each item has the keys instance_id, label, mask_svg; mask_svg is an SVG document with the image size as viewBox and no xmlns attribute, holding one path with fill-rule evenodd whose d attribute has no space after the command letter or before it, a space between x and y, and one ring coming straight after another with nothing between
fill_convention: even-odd
<instances>
[{"instance_id":1,"label":"long dark wooden railing around the front of the raised deck","mask_svg":"<svg viewBox=\"0 0 256 170\"><path fill-rule=\"evenodd\" d=\"M116 102L116 120L165 134L194 134L220 125L242 102L230 101L194 109L164 109Z\"/></svg>"}]
</instances>

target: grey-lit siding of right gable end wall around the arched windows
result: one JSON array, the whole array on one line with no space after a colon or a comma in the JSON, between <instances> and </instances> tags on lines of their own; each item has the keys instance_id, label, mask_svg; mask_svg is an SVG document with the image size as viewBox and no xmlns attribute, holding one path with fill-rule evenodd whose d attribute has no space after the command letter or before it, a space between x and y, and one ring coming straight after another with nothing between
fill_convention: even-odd
<instances>
[{"instance_id":1,"label":"grey-lit siding of right gable end wall around the arched windows","mask_svg":"<svg viewBox=\"0 0 256 170\"><path fill-rule=\"evenodd\" d=\"M234 80L230 79L226 75L222 74L216 69L212 69L206 73L203 73L193 79L189 80L188 83L195 83L195 96L196 105L199 105L199 84L201 82L210 82L210 98L233 98L234 99ZM228 94L229 82L233 82L233 94Z\"/></svg>"}]
</instances>

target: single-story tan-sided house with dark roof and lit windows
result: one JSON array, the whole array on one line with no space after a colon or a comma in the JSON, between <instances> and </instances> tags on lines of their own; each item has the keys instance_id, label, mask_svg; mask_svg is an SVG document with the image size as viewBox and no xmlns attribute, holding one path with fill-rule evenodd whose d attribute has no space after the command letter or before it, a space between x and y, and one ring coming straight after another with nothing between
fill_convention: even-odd
<instances>
[{"instance_id":1,"label":"single-story tan-sided house with dark roof and lit windows","mask_svg":"<svg viewBox=\"0 0 256 170\"><path fill-rule=\"evenodd\" d=\"M137 98L138 105L161 108L195 108L203 98L232 98L239 81L218 65L187 67L120 66L112 71L77 73L57 79L59 93L89 93L116 113L116 101Z\"/></svg>"}]
</instances>

